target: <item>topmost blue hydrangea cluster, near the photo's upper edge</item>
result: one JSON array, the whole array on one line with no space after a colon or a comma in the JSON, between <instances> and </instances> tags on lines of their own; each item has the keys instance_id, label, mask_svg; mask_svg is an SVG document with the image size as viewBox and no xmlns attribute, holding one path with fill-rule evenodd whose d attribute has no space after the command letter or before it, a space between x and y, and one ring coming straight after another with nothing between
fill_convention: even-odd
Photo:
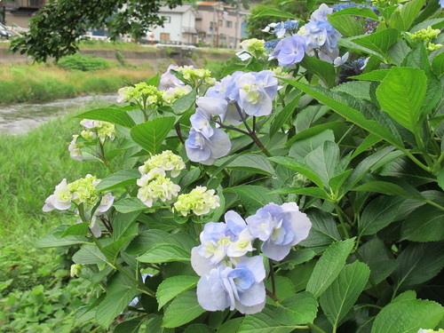
<instances>
[{"instance_id":1,"label":"topmost blue hydrangea cluster, near the photo's upper edge","mask_svg":"<svg viewBox=\"0 0 444 333\"><path fill-rule=\"evenodd\" d=\"M332 12L333 9L327 4L321 4L297 33L284 37L276 44L269 59L277 59L279 66L294 68L307 54L311 57L317 55L329 63L335 62L336 66L342 65L348 56L339 57L338 40L341 34L327 20L327 15ZM295 22L293 24L293 30L296 30L297 25ZM285 36L288 30L285 24L276 24L274 29L278 27L279 36Z\"/></svg>"}]
</instances>

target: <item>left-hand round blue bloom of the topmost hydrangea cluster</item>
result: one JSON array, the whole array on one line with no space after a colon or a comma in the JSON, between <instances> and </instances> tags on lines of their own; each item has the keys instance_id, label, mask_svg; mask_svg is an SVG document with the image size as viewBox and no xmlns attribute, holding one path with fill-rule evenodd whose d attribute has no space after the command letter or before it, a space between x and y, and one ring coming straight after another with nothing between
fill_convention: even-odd
<instances>
[{"instance_id":1,"label":"left-hand round blue bloom of the topmost hydrangea cluster","mask_svg":"<svg viewBox=\"0 0 444 333\"><path fill-rule=\"evenodd\" d=\"M305 36L293 35L285 37L276 45L271 58L278 59L279 66L294 68L295 64L304 59L305 51Z\"/></svg>"}]
</instances>

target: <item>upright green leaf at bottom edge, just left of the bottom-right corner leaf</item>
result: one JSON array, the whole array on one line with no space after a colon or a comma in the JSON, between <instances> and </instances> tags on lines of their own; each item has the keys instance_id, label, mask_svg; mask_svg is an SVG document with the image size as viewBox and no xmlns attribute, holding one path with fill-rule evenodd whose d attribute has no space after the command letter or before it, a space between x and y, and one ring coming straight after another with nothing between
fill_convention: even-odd
<instances>
[{"instance_id":1,"label":"upright green leaf at bottom edge, just left of the bottom-right corner leaf","mask_svg":"<svg viewBox=\"0 0 444 333\"><path fill-rule=\"evenodd\" d=\"M319 298L322 310L334 328L338 327L345 314L352 309L369 280L369 275L369 266L360 261L346 265Z\"/></svg>"}]
</instances>

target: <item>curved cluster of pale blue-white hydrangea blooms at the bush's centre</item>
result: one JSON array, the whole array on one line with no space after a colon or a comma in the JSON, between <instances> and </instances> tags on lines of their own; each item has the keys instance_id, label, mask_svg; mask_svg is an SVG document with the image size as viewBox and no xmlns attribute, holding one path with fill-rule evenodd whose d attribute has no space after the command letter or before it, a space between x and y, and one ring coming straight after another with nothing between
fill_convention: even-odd
<instances>
[{"instance_id":1,"label":"curved cluster of pale blue-white hydrangea blooms at the bush's centre","mask_svg":"<svg viewBox=\"0 0 444 333\"><path fill-rule=\"evenodd\" d=\"M186 139L186 155L193 162L210 165L231 149L225 131L210 123L238 125L249 116L270 115L278 80L271 70L227 75L197 99L191 116L191 131Z\"/></svg>"}]
</instances>

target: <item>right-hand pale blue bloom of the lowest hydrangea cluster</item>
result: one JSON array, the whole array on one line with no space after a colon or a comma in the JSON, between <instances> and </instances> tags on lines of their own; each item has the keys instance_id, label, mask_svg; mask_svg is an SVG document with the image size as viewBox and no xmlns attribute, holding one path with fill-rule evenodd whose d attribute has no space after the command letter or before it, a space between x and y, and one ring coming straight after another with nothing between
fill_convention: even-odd
<instances>
[{"instance_id":1,"label":"right-hand pale blue bloom of the lowest hydrangea cluster","mask_svg":"<svg viewBox=\"0 0 444 333\"><path fill-rule=\"evenodd\" d=\"M262 252L276 261L287 257L293 246L304 241L312 227L312 222L299 211L296 202L281 206L269 203L247 218L247 224L250 233L264 242Z\"/></svg>"}]
</instances>

